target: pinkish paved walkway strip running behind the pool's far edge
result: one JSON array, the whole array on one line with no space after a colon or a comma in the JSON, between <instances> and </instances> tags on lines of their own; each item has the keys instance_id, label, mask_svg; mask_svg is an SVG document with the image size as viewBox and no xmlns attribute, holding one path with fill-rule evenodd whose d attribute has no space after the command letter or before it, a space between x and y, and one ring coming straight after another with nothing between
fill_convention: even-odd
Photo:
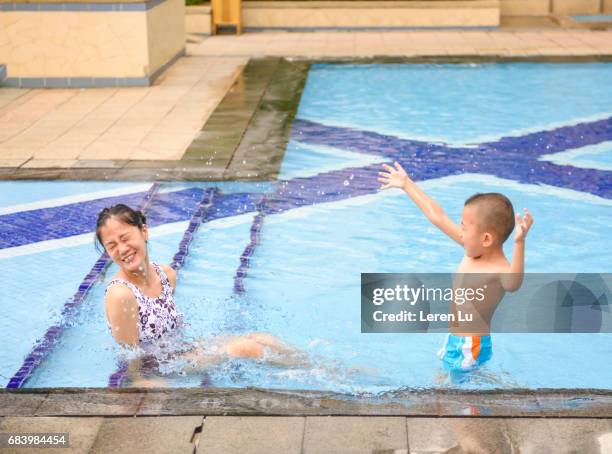
<instances>
[{"instance_id":1,"label":"pinkish paved walkway strip running behind the pool's far edge","mask_svg":"<svg viewBox=\"0 0 612 454\"><path fill-rule=\"evenodd\" d=\"M612 30L509 29L247 33L215 36L188 47L192 55L364 58L374 56L604 56Z\"/></svg>"}]
</instances>

